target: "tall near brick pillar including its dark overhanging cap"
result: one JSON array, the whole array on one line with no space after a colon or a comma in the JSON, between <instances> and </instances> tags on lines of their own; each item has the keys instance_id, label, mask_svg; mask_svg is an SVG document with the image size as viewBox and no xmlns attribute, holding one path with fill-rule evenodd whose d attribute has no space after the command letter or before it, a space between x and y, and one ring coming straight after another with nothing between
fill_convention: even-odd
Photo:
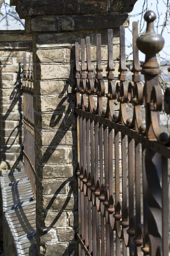
<instances>
[{"instance_id":1,"label":"tall near brick pillar including its dark overhanging cap","mask_svg":"<svg viewBox=\"0 0 170 256\"><path fill-rule=\"evenodd\" d=\"M112 28L119 44L119 26L128 26L125 12L136 0L131 6L125 0L121 5L115 0L17 2L27 32L33 33L37 246L42 256L77 256L74 43L90 36L96 44L100 32L107 52L107 29Z\"/></svg>"}]
</instances>

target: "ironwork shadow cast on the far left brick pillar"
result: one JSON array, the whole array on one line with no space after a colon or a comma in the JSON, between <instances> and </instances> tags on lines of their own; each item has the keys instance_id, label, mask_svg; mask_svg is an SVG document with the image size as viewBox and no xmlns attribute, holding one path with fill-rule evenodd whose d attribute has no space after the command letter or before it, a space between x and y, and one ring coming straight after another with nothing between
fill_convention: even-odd
<instances>
[{"instance_id":1,"label":"ironwork shadow cast on the far left brick pillar","mask_svg":"<svg viewBox=\"0 0 170 256\"><path fill-rule=\"evenodd\" d=\"M1 62L0 62L1 65ZM16 157L15 161L11 161L12 166L10 165L10 160L6 157L6 153L12 152L11 147L15 144L22 145L22 81L21 81L21 64L18 64L17 71L17 79L14 82L14 88L7 98L7 103L5 102L5 98L3 98L3 81L2 81L2 70L0 70L0 145L1 145L1 154L0 154L0 163L4 161L8 167L8 169L14 171L16 168L20 168L19 163L23 161L22 150L20 151L20 155ZM10 90L10 89L9 89ZM8 99L10 103L8 104ZM4 105L7 105L7 107ZM17 106L17 107L16 107ZM4 109L3 109L4 108ZM17 114L17 118L10 118L11 113ZM17 119L15 121L15 119ZM7 125L7 120L11 121L9 126ZM13 124L12 124L13 122ZM15 123L17 125L15 126ZM10 130L6 130L7 128Z\"/></svg>"}]
</instances>

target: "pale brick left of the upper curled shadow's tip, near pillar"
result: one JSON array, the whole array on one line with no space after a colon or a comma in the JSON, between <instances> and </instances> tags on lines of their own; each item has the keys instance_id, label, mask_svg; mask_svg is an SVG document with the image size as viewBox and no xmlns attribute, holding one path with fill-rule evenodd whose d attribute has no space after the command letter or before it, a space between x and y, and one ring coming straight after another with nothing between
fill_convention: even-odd
<instances>
[{"instance_id":1,"label":"pale brick left of the upper curled shadow's tip, near pillar","mask_svg":"<svg viewBox=\"0 0 170 256\"><path fill-rule=\"evenodd\" d=\"M34 82L34 94L35 95L63 95L67 90L66 81L35 81Z\"/></svg>"}]
</instances>

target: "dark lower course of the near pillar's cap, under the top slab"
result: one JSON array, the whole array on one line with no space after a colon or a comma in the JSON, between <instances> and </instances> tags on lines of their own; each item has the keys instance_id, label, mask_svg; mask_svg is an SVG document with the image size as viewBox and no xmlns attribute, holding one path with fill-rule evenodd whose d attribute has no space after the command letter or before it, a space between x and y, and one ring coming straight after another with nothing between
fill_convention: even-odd
<instances>
[{"instance_id":1,"label":"dark lower course of the near pillar's cap, under the top slab","mask_svg":"<svg viewBox=\"0 0 170 256\"><path fill-rule=\"evenodd\" d=\"M37 16L26 19L26 32L66 32L100 29L117 29L129 26L128 14L99 14L72 16Z\"/></svg>"}]
</instances>

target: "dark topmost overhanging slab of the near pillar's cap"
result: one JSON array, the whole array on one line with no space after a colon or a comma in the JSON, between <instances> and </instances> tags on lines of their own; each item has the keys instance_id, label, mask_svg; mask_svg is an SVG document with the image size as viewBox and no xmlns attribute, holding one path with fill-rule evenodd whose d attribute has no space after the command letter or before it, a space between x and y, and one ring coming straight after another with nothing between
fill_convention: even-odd
<instances>
[{"instance_id":1,"label":"dark topmost overhanging slab of the near pillar's cap","mask_svg":"<svg viewBox=\"0 0 170 256\"><path fill-rule=\"evenodd\" d=\"M20 18L42 15L129 13L136 0L10 0Z\"/></svg>"}]
</instances>

